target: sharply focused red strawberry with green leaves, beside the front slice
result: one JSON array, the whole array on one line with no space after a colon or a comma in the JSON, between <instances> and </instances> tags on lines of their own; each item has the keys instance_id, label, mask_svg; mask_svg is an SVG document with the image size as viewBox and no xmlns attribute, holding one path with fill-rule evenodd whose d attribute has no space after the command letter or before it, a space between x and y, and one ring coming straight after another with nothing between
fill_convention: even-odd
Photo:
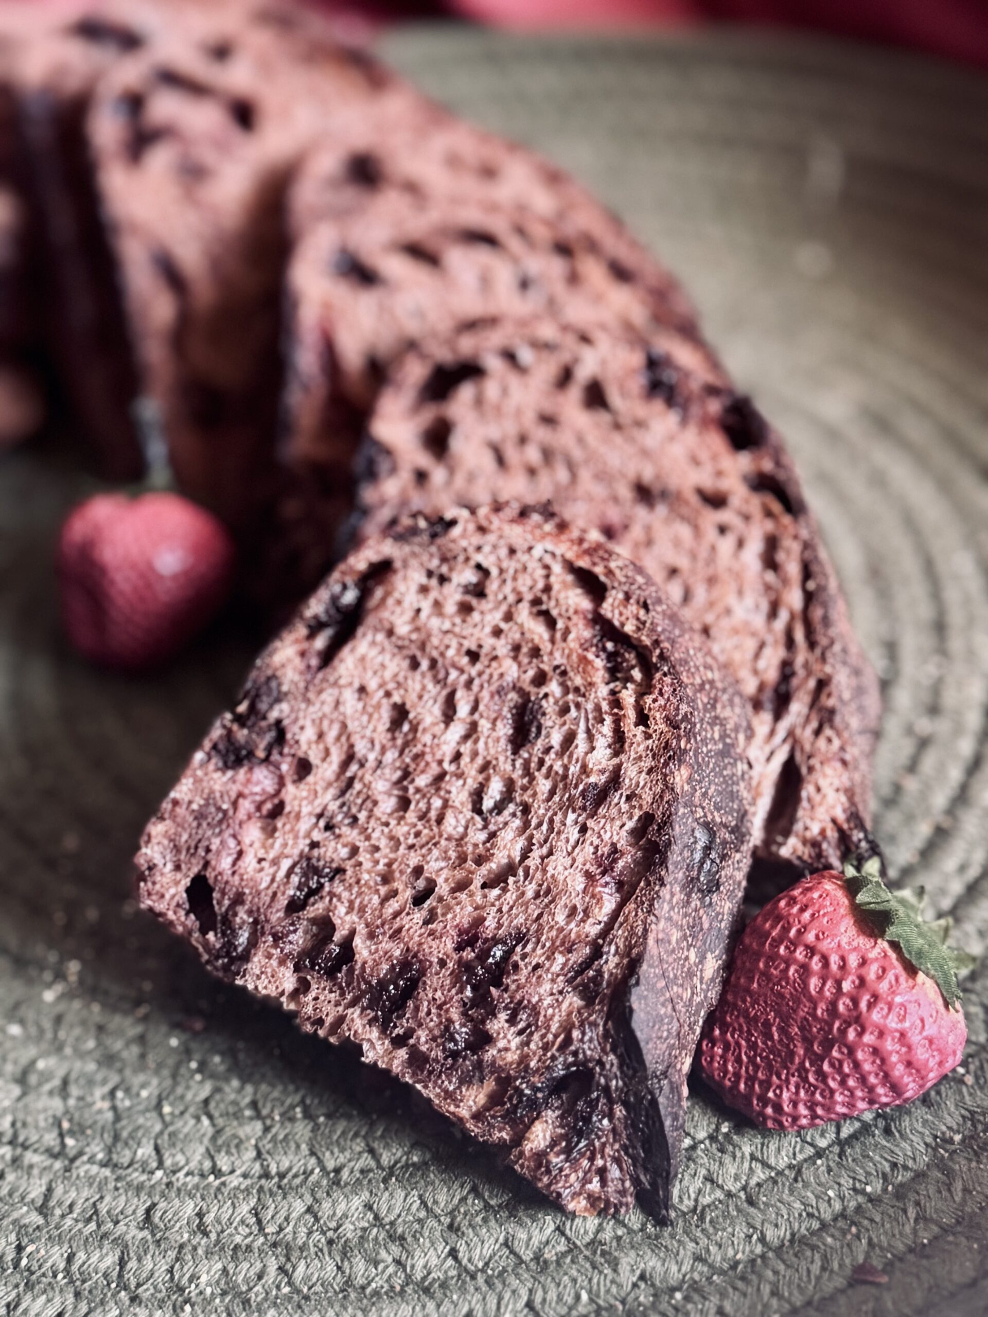
<instances>
[{"instance_id":1,"label":"sharply focused red strawberry with green leaves, beside the front slice","mask_svg":"<svg viewBox=\"0 0 988 1317\"><path fill-rule=\"evenodd\" d=\"M804 1130L910 1102L958 1064L968 957L921 902L889 892L871 860L804 878L752 919L700 1044L725 1102Z\"/></svg>"}]
</instances>

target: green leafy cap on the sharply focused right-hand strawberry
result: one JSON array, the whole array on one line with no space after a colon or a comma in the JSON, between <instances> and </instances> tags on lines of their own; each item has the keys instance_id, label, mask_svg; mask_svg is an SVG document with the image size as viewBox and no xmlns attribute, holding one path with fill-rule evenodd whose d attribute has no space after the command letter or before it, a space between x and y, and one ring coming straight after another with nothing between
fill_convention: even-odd
<instances>
[{"instance_id":1,"label":"green leafy cap on the sharply focused right-hand strawberry","mask_svg":"<svg viewBox=\"0 0 988 1317\"><path fill-rule=\"evenodd\" d=\"M948 1006L956 1006L960 1001L958 977L974 967L975 957L947 946L952 921L948 917L923 919L922 888L901 892L887 888L879 856L865 860L860 868L848 861L844 881L865 922L879 936L893 942L921 973L933 979Z\"/></svg>"}]
</instances>

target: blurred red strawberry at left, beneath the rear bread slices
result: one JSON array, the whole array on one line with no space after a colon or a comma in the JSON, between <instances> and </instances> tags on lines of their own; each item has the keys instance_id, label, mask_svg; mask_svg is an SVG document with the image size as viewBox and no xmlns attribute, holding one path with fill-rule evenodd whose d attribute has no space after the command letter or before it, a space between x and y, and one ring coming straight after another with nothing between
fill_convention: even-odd
<instances>
[{"instance_id":1,"label":"blurred red strawberry at left, beneath the rear bread slices","mask_svg":"<svg viewBox=\"0 0 988 1317\"><path fill-rule=\"evenodd\" d=\"M178 494L97 494L62 527L65 628L94 662L151 668L213 618L232 573L233 543L204 508Z\"/></svg>"}]
</instances>

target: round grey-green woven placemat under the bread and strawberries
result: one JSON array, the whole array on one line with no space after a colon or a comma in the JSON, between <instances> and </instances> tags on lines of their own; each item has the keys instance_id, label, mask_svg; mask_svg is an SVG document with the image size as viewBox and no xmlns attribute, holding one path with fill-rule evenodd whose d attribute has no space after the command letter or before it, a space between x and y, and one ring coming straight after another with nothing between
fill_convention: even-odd
<instances>
[{"instance_id":1,"label":"round grey-green woven placemat under the bread and strawberries","mask_svg":"<svg viewBox=\"0 0 988 1317\"><path fill-rule=\"evenodd\" d=\"M885 686L877 831L988 939L988 88L796 40L389 53L535 142L681 271L789 436ZM570 1220L137 915L128 857L246 661L154 681L58 636L57 448L0 466L0 1305L128 1314L981 1314L988 969L908 1109L802 1137L697 1090L676 1223ZM888 1276L854 1284L869 1262Z\"/></svg>"}]
</instances>

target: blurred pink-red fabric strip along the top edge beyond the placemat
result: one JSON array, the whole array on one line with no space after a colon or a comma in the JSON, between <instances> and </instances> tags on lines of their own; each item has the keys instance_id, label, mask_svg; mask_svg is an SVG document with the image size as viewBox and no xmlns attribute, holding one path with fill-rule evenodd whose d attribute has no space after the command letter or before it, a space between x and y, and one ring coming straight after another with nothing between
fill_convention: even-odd
<instances>
[{"instance_id":1,"label":"blurred pink-red fabric strip along the top edge beyond the placemat","mask_svg":"<svg viewBox=\"0 0 988 1317\"><path fill-rule=\"evenodd\" d=\"M988 0L321 0L371 21L458 14L505 28L756 22L909 46L988 67Z\"/></svg>"}]
</instances>

